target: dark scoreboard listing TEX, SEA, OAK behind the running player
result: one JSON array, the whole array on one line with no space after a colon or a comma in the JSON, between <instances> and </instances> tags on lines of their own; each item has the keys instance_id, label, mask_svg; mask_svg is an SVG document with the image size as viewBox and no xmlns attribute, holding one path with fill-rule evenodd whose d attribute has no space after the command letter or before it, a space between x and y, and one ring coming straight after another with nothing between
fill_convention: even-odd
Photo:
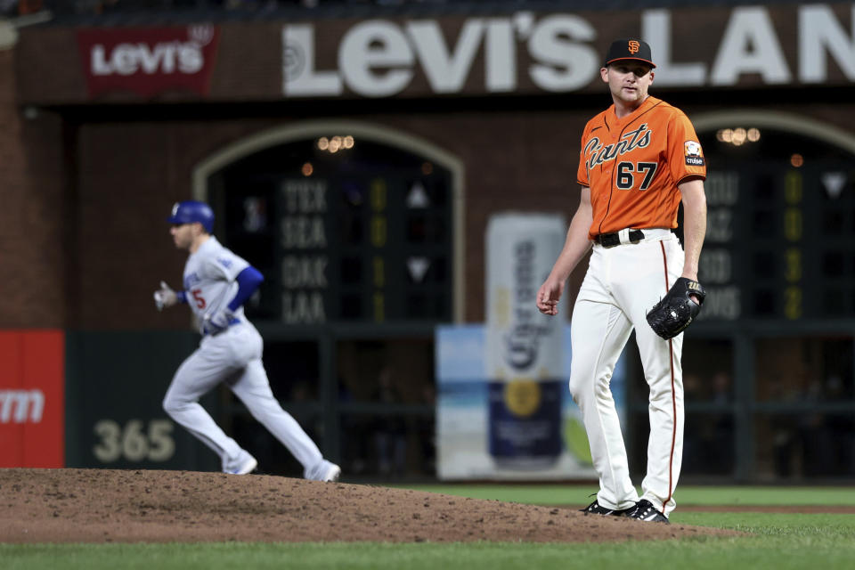
<instances>
[{"instance_id":1,"label":"dark scoreboard listing TEX, SEA, OAK behind the running player","mask_svg":"<svg viewBox=\"0 0 855 570\"><path fill-rule=\"evenodd\" d=\"M222 196L224 242L265 274L250 318L452 320L452 191L443 171L244 174Z\"/></svg>"}]
</instances>

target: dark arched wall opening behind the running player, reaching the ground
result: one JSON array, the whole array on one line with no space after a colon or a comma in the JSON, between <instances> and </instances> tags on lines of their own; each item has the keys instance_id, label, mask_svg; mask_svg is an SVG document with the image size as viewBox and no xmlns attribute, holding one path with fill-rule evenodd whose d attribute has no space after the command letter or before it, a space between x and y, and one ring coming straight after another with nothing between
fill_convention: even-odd
<instances>
[{"instance_id":1,"label":"dark arched wall opening behind the running player, reaching the ground","mask_svg":"<svg viewBox=\"0 0 855 570\"><path fill-rule=\"evenodd\" d=\"M248 316L274 394L351 477L430 474L433 329L463 314L462 179L435 145L351 121L265 131L196 168L216 234L265 274ZM269 438L233 400L224 415L262 460Z\"/></svg>"}]
</instances>

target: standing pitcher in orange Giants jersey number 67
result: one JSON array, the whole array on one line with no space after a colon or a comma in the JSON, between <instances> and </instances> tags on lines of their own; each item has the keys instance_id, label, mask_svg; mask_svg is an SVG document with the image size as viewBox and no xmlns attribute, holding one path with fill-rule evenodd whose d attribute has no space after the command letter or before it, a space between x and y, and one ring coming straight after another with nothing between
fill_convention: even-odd
<instances>
[{"instance_id":1,"label":"standing pitcher in orange Giants jersey number 67","mask_svg":"<svg viewBox=\"0 0 855 570\"><path fill-rule=\"evenodd\" d=\"M650 46L637 38L608 49L600 77L614 104L582 133L582 198L537 306L558 313L568 276L592 247L570 327L570 393L599 474L597 500L583 510L667 523L682 458L681 331L704 299L697 265L706 232L706 165L686 115L647 93L654 69ZM671 231L680 202L684 248ZM633 329L650 388L640 498L609 390Z\"/></svg>"}]
</instances>

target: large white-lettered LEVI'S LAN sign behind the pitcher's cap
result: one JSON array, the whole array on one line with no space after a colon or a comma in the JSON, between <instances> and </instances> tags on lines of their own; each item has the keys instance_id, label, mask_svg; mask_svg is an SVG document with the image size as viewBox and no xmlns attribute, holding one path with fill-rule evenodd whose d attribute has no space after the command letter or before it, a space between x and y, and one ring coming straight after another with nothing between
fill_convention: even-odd
<instances>
[{"instance_id":1,"label":"large white-lettered LEVI'S LAN sign behind the pitcher's cap","mask_svg":"<svg viewBox=\"0 0 855 570\"><path fill-rule=\"evenodd\" d=\"M855 4L739 6L711 9L709 19L680 9L636 13L639 21L624 28L651 45L658 86L855 82ZM703 26L680 34L685 24L677 20L690 16L690 28L698 19ZM612 24L611 12L364 20L343 31L341 22L288 24L282 92L391 97L603 89L601 52L612 38L599 30Z\"/></svg>"}]
</instances>

